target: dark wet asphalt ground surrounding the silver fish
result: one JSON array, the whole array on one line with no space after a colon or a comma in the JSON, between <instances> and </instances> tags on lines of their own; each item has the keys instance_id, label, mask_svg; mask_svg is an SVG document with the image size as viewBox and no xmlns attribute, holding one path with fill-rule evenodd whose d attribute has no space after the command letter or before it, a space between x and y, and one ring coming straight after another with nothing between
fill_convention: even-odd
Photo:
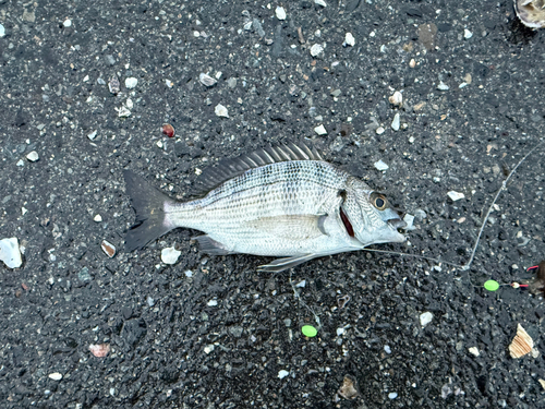
<instances>
[{"instance_id":1,"label":"dark wet asphalt ground surrounding the silver fish","mask_svg":"<svg viewBox=\"0 0 545 409\"><path fill-rule=\"evenodd\" d=\"M270 258L206 256L196 231L123 252L123 169L186 199L208 165L305 139L419 216L408 243L377 249L467 263L506 173L544 134L545 32L510 0L326 2L284 1L279 21L265 1L0 1L0 239L25 249L21 268L0 263L0 407L545 407L543 298L482 287L528 282L545 258L543 145L499 196L469 270L340 254L291 273L305 280L296 299L290 273L256 273ZM174 244L178 264L162 264ZM310 309L315 338L301 334L317 326ZM509 356L519 323L536 357ZM337 395L344 376L353 399Z\"/></svg>"}]
</instances>

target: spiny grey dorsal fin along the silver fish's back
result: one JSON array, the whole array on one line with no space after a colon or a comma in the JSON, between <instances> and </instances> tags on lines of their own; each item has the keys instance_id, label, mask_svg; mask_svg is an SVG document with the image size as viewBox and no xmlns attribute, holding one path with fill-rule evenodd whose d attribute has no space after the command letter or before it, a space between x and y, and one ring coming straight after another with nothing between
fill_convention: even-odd
<instances>
[{"instance_id":1,"label":"spiny grey dorsal fin along the silver fish's back","mask_svg":"<svg viewBox=\"0 0 545 409\"><path fill-rule=\"evenodd\" d=\"M316 148L304 144L271 146L232 159L222 159L205 169L196 180L195 195L208 193L214 188L244 173L249 169L289 160L324 160Z\"/></svg>"}]
</instances>

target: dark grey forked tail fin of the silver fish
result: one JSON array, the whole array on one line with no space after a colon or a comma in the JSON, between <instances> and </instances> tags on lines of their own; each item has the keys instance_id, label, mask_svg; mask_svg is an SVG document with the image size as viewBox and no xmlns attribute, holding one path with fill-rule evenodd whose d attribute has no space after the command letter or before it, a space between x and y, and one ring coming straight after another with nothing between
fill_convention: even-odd
<instances>
[{"instance_id":1,"label":"dark grey forked tail fin of the silver fish","mask_svg":"<svg viewBox=\"0 0 545 409\"><path fill-rule=\"evenodd\" d=\"M125 170L123 177L125 178L126 193L136 212L134 226L125 236L125 251L131 252L144 248L152 240L175 227L171 226L165 218L165 203L172 203L173 200L131 170Z\"/></svg>"}]
</instances>

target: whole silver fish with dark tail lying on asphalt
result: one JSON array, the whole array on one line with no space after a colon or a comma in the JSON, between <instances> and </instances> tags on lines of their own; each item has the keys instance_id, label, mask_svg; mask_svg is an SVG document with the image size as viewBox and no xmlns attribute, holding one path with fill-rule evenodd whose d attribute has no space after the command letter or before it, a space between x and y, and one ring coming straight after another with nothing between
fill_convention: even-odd
<instances>
[{"instance_id":1,"label":"whole silver fish with dark tail lying on asphalt","mask_svg":"<svg viewBox=\"0 0 545 409\"><path fill-rule=\"evenodd\" d=\"M316 257L405 240L399 231L405 222L384 194L305 144L220 160L197 178L198 197L185 202L132 170L123 176L136 213L126 252L183 227L204 232L194 238L204 253L279 257L257 268L279 273Z\"/></svg>"}]
</instances>

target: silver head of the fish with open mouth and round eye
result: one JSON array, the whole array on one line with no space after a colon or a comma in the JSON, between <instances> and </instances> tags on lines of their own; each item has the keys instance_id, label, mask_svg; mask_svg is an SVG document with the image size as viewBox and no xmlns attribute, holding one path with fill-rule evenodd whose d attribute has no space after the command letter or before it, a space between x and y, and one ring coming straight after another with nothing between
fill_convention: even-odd
<instances>
[{"instance_id":1,"label":"silver head of the fish with open mouth and round eye","mask_svg":"<svg viewBox=\"0 0 545 409\"><path fill-rule=\"evenodd\" d=\"M359 179L351 178L341 193L340 218L349 236L362 246L375 243L403 242L398 231L407 226L382 193L373 191Z\"/></svg>"}]
</instances>

